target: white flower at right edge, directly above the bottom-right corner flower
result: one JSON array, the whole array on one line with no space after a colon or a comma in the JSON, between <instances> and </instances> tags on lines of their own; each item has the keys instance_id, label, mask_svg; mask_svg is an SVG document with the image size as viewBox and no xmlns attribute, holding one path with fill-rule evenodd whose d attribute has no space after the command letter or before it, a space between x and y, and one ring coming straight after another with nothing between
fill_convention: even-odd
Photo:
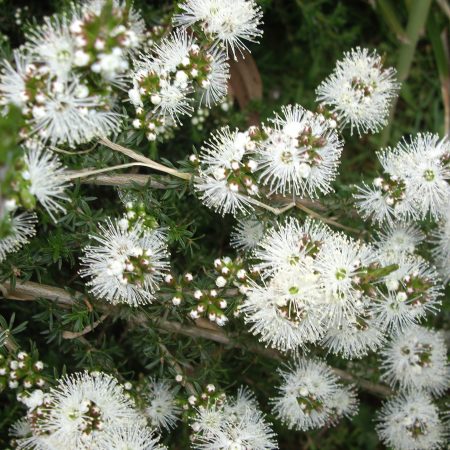
<instances>
[{"instance_id":1,"label":"white flower at right edge, directly above the bottom-right corner flower","mask_svg":"<svg viewBox=\"0 0 450 450\"><path fill-rule=\"evenodd\" d=\"M384 378L392 386L440 395L450 381L447 348L443 336L413 326L395 336L382 350Z\"/></svg>"}]
</instances>

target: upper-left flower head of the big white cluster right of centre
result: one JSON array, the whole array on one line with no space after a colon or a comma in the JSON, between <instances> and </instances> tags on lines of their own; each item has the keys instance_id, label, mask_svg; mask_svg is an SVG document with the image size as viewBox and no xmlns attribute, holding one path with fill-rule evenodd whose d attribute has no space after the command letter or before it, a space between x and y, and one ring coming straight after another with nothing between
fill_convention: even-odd
<instances>
[{"instance_id":1,"label":"upper-left flower head of the big white cluster right of centre","mask_svg":"<svg viewBox=\"0 0 450 450\"><path fill-rule=\"evenodd\" d=\"M309 264L311 257L331 236L330 228L322 222L306 219L301 224L290 217L266 232L253 252L258 260L255 267L267 278L275 272Z\"/></svg>"}]
</instances>

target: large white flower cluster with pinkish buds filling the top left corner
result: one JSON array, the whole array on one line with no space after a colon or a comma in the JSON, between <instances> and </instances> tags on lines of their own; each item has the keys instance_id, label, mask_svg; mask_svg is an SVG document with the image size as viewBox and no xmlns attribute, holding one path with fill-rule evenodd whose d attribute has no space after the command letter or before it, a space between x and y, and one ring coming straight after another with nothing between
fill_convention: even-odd
<instances>
[{"instance_id":1,"label":"large white flower cluster with pinkish buds filling the top left corner","mask_svg":"<svg viewBox=\"0 0 450 450\"><path fill-rule=\"evenodd\" d=\"M4 62L0 103L18 106L24 133L74 147L116 130L112 85L123 86L144 24L128 4L92 0L34 28L15 67Z\"/></svg>"}]
</instances>

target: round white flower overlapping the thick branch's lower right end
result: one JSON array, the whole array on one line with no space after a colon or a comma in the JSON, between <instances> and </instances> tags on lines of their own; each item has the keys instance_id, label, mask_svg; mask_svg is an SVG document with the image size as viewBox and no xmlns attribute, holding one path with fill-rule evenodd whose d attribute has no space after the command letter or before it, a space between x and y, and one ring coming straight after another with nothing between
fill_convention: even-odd
<instances>
[{"instance_id":1,"label":"round white flower overlapping the thick branch's lower right end","mask_svg":"<svg viewBox=\"0 0 450 450\"><path fill-rule=\"evenodd\" d=\"M282 384L271 399L275 416L289 429L307 431L335 424L356 410L354 394L345 390L330 367L320 360L297 359L287 371L278 370ZM339 408L339 397L346 397Z\"/></svg>"}]
</instances>

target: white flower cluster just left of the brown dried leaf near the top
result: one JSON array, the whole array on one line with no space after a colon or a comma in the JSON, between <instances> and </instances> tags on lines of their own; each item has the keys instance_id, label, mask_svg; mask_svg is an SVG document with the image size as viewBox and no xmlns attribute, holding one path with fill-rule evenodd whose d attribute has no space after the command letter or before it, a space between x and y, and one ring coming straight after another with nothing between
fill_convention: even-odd
<instances>
[{"instance_id":1,"label":"white flower cluster just left of the brown dried leaf near the top","mask_svg":"<svg viewBox=\"0 0 450 450\"><path fill-rule=\"evenodd\" d=\"M201 47L186 31L175 31L155 46L152 55L134 62L133 88L128 92L136 110L133 126L155 140L164 127L191 114L191 97L202 91L207 106L227 92L229 67L220 50Z\"/></svg>"}]
</instances>

